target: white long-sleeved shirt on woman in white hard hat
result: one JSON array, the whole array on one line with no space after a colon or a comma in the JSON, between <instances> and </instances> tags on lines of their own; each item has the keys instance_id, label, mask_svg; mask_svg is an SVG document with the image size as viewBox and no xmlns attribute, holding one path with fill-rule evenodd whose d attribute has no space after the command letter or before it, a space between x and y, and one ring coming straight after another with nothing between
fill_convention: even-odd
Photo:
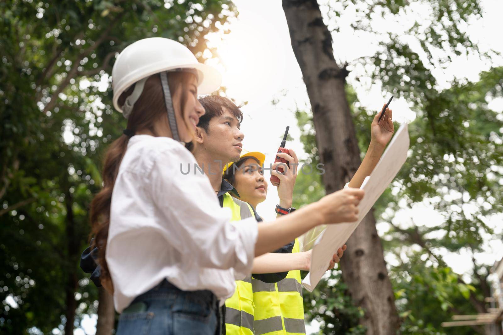
<instances>
[{"instance_id":1,"label":"white long-sleeved shirt on woman in white hard hat","mask_svg":"<svg viewBox=\"0 0 503 335\"><path fill-rule=\"evenodd\" d=\"M129 140L112 193L106 249L119 313L164 278L223 300L234 293L235 279L251 272L257 221L231 222L207 176L194 174L195 164L171 138Z\"/></svg>"}]
</instances>

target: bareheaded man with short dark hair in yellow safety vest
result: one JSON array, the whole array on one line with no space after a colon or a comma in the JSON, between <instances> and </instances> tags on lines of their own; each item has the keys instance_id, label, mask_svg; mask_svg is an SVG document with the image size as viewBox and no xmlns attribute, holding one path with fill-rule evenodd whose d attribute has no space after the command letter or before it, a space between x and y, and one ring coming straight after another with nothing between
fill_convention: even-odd
<instances>
[{"instance_id":1,"label":"bareheaded man with short dark hair in yellow safety vest","mask_svg":"<svg viewBox=\"0 0 503 335\"><path fill-rule=\"evenodd\" d=\"M228 163L237 161L241 155L244 139L244 134L240 130L243 117L241 110L230 99L218 95L205 96L199 101L206 113L199 120L195 140L187 147L194 154L200 169L208 176L220 205L231 209L232 219L237 220L247 215L254 215L258 221L262 221L255 208L237 199L239 194L235 188L222 178L224 167ZM293 242L276 252L291 253L292 248ZM284 279L287 273L254 274L253 276L273 283ZM236 281L236 291L226 300L223 310L227 335L254 334L255 309L251 276Z\"/></svg>"}]
</instances>

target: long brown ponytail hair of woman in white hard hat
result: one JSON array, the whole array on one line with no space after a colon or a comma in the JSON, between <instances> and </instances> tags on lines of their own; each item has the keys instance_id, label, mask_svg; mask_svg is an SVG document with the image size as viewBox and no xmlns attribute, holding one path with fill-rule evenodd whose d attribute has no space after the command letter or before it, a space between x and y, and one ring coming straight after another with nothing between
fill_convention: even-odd
<instances>
[{"instance_id":1,"label":"long brown ponytail hair of woman in white hard hat","mask_svg":"<svg viewBox=\"0 0 503 335\"><path fill-rule=\"evenodd\" d=\"M191 76L189 72L170 72L168 82L173 97L174 108L181 108L182 115L185 115L185 102L188 98L188 87ZM119 97L119 105L123 105L126 98L132 93L134 85ZM133 132L148 129L155 136L154 124L167 121L164 95L160 82L160 75L151 75L145 82L145 87L139 99L134 104L131 115L127 122L127 129ZM178 125L187 127L187 125ZM94 247L98 247L98 264L101 266L101 279L109 279L107 262L105 261L105 250L107 247L108 228L110 225L110 205L115 179L119 173L119 166L126 153L129 137L122 135L115 140L107 150L105 163L103 166L103 189L96 194L91 202L90 221L92 234L95 236Z\"/></svg>"}]
</instances>

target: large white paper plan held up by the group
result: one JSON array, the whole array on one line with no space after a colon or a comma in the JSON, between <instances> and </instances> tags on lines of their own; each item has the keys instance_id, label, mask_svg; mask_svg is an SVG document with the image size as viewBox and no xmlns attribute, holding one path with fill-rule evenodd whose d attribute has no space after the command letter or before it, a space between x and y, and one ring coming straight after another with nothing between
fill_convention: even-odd
<instances>
[{"instance_id":1,"label":"large white paper plan held up by the group","mask_svg":"<svg viewBox=\"0 0 503 335\"><path fill-rule=\"evenodd\" d=\"M388 188L403 163L407 159L409 136L407 124L402 124L391 140L371 175L364 180L361 188L365 195L358 205L358 220L342 224L329 225L314 244L311 256L311 268L302 281L302 286L312 291L326 272L328 264L339 248L350 238L370 208Z\"/></svg>"}]
</instances>

